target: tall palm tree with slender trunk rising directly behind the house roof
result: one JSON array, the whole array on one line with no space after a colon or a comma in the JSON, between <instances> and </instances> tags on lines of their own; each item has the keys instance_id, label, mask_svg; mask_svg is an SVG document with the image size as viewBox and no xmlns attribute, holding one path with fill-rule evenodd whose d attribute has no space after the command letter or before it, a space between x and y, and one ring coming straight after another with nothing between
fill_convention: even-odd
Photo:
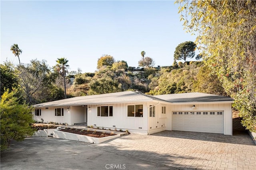
<instances>
[{"instance_id":1,"label":"tall palm tree with slender trunk rising directly behind the house roof","mask_svg":"<svg viewBox=\"0 0 256 170\"><path fill-rule=\"evenodd\" d=\"M57 58L58 59L58 58ZM67 98L67 94L66 94L66 74L68 73L68 60L65 58L60 58L58 60L56 60L57 64L56 64L56 68L58 70L58 72L60 73L60 75L64 78L64 90L65 90L65 99Z\"/></svg>"}]
</instances>

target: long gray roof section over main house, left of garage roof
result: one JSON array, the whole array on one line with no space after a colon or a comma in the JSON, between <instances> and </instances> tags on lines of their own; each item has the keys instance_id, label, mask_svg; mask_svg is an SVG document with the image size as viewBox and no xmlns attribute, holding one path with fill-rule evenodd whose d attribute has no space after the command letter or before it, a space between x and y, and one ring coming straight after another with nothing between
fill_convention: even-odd
<instances>
[{"instance_id":1,"label":"long gray roof section over main house, left of garage roof","mask_svg":"<svg viewBox=\"0 0 256 170\"><path fill-rule=\"evenodd\" d=\"M57 100L53 102L36 104L34 105L34 107L82 106L82 105L89 105L89 104L150 102L154 100L162 101L161 99L155 98L154 96L148 96L148 95L144 95L136 92L126 91L126 92L116 92L116 93L68 98L68 99Z\"/></svg>"}]
</instances>

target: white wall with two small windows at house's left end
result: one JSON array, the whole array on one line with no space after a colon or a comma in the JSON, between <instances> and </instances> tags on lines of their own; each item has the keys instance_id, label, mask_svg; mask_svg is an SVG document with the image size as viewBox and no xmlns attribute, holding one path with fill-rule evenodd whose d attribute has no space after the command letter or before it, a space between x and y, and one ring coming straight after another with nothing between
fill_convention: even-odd
<instances>
[{"instance_id":1,"label":"white wall with two small windows at house's left end","mask_svg":"<svg viewBox=\"0 0 256 170\"><path fill-rule=\"evenodd\" d=\"M55 108L64 108L64 116L55 116ZM67 110L67 108L69 108ZM71 119L70 119L70 107L69 106L65 106L65 107L48 107L48 109L46 109L46 107L43 108L36 108L36 109L41 109L41 116L35 116L35 111L33 111L33 115L34 115L34 120L35 121L42 121L42 119L44 120L44 122L56 122L56 123L68 123L68 125L71 124Z\"/></svg>"}]
</instances>

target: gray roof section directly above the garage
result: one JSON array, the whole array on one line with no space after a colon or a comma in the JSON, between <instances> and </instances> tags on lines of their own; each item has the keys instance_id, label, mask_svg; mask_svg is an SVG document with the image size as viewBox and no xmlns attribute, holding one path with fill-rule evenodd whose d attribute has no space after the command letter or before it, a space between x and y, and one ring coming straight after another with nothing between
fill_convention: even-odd
<instances>
[{"instance_id":1,"label":"gray roof section directly above the garage","mask_svg":"<svg viewBox=\"0 0 256 170\"><path fill-rule=\"evenodd\" d=\"M154 96L156 98L172 103L188 103L188 102L233 102L233 99L227 96L218 96L206 93L180 93L180 94L164 94Z\"/></svg>"}]
</instances>

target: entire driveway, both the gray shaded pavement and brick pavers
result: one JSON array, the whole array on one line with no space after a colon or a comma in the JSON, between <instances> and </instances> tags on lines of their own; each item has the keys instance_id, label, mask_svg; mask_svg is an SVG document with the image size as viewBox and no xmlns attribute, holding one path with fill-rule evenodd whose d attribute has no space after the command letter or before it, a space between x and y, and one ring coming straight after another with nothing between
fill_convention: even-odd
<instances>
[{"instance_id":1,"label":"entire driveway, both the gray shaded pavement and brick pavers","mask_svg":"<svg viewBox=\"0 0 256 170\"><path fill-rule=\"evenodd\" d=\"M255 170L256 146L247 133L229 136L163 131L126 135L94 145L32 137L21 143L14 141L10 150L1 153L1 170L114 169L111 164L115 169L133 170Z\"/></svg>"}]
</instances>

